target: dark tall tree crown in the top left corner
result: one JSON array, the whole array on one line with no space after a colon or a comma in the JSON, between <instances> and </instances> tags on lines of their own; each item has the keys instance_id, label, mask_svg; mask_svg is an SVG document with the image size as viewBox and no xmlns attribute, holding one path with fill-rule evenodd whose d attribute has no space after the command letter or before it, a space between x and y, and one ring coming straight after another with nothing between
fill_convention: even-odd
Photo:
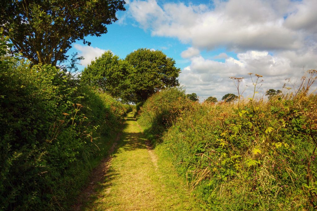
<instances>
[{"instance_id":1,"label":"dark tall tree crown in the top left corner","mask_svg":"<svg viewBox=\"0 0 317 211\"><path fill-rule=\"evenodd\" d=\"M16 51L33 64L67 59L76 40L107 33L106 25L125 10L124 0L1 0L0 27Z\"/></svg>"}]
</instances>

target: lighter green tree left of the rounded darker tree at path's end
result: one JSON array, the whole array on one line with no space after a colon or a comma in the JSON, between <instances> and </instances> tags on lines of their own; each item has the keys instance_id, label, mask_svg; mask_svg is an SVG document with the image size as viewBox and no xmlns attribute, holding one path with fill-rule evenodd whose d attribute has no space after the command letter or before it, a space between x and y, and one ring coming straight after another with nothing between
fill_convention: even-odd
<instances>
[{"instance_id":1,"label":"lighter green tree left of the rounded darker tree at path's end","mask_svg":"<svg viewBox=\"0 0 317 211\"><path fill-rule=\"evenodd\" d=\"M113 97L130 101L132 73L133 67L128 62L107 51L85 67L81 81L97 86Z\"/></svg>"}]
</instances>

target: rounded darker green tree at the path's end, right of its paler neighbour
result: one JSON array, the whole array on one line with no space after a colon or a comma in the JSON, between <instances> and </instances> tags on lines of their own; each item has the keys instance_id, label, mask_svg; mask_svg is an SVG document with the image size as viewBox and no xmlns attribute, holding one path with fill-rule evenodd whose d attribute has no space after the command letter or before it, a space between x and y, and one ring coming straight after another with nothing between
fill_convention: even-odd
<instances>
[{"instance_id":1,"label":"rounded darker green tree at the path's end, right of its paler neighbour","mask_svg":"<svg viewBox=\"0 0 317 211\"><path fill-rule=\"evenodd\" d=\"M131 76L133 102L144 102L165 87L179 85L176 78L181 70L175 67L175 60L162 51L139 48L128 54L125 60L134 67L134 74Z\"/></svg>"}]
</instances>

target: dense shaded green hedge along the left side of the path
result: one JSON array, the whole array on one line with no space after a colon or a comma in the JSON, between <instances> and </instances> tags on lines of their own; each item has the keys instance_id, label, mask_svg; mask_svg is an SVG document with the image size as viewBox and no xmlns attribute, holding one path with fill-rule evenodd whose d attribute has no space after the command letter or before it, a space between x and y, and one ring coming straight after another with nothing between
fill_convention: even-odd
<instances>
[{"instance_id":1,"label":"dense shaded green hedge along the left side of the path","mask_svg":"<svg viewBox=\"0 0 317 211\"><path fill-rule=\"evenodd\" d=\"M51 65L0 68L0 209L63 209L126 109Z\"/></svg>"}]
</instances>

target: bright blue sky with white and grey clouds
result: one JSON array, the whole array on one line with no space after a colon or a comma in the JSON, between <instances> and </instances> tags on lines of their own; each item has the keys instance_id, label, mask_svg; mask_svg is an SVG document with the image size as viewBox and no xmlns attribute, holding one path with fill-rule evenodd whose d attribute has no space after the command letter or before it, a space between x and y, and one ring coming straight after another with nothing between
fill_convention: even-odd
<instances>
[{"instance_id":1,"label":"bright blue sky with white and grey clouds","mask_svg":"<svg viewBox=\"0 0 317 211\"><path fill-rule=\"evenodd\" d=\"M179 81L186 92L201 101L237 94L229 77L245 77L247 97L249 72L263 75L263 95L317 68L317 0L126 2L108 36L91 38L90 47L74 44L86 58L83 65L105 50L121 58L140 47L162 50L182 69Z\"/></svg>"}]
</instances>

